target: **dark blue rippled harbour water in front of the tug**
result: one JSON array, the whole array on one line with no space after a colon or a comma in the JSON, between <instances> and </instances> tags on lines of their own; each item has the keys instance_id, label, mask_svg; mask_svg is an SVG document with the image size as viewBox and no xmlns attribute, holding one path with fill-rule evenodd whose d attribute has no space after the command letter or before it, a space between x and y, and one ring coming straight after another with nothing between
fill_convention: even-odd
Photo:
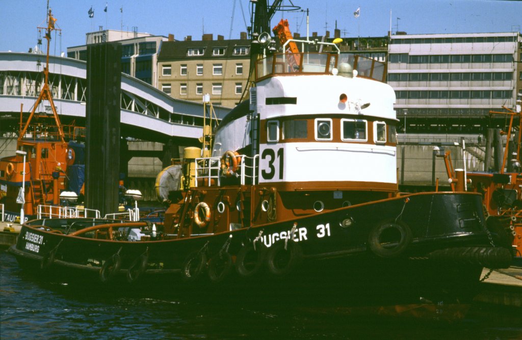
<instances>
[{"instance_id":1,"label":"dark blue rippled harbour water in front of the tug","mask_svg":"<svg viewBox=\"0 0 522 340\"><path fill-rule=\"evenodd\" d=\"M281 299L198 299L152 290L104 292L30 280L0 252L4 339L521 339L522 311L471 305L464 320L387 317L361 307ZM145 289L146 290L146 289Z\"/></svg>"}]
</instances>

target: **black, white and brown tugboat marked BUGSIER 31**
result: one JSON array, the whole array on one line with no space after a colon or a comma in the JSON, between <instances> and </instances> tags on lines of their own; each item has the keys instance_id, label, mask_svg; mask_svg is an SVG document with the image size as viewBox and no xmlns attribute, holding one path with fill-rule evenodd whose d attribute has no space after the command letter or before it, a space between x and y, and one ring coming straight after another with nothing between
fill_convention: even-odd
<instances>
[{"instance_id":1,"label":"black, white and brown tugboat marked BUGSIER 31","mask_svg":"<svg viewBox=\"0 0 522 340\"><path fill-rule=\"evenodd\" d=\"M270 40L260 33L255 43ZM323 52L304 52L315 44ZM280 51L255 60L250 99L205 127L212 145L185 150L163 225L36 220L10 253L67 281L226 282L269 294L471 290L484 266L509 266L479 193L398 192L384 64L341 63L336 44L288 35Z\"/></svg>"}]
</instances>

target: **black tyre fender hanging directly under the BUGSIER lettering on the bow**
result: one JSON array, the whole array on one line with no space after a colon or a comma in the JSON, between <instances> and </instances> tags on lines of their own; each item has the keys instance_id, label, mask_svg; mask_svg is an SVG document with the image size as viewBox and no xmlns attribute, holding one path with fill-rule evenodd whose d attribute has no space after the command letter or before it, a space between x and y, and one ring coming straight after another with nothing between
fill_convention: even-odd
<instances>
[{"instance_id":1,"label":"black tyre fender hanging directly under the BUGSIER lettering on the bow","mask_svg":"<svg viewBox=\"0 0 522 340\"><path fill-rule=\"evenodd\" d=\"M303 260L301 246L294 241L288 241L286 248L284 249L284 241L279 241L268 249L266 264L270 274L287 275L301 264Z\"/></svg>"}]
</instances>

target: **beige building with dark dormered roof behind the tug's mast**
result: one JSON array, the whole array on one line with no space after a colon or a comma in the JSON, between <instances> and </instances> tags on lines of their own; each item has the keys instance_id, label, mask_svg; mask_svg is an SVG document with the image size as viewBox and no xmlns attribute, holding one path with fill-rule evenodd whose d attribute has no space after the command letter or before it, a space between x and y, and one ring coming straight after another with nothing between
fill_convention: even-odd
<instances>
[{"instance_id":1,"label":"beige building with dark dormered roof behind the tug's mast","mask_svg":"<svg viewBox=\"0 0 522 340\"><path fill-rule=\"evenodd\" d=\"M202 40L163 42L158 55L158 88L173 98L203 100L210 94L214 105L234 107L248 81L250 40L224 40L204 34ZM247 98L247 97L246 97Z\"/></svg>"}]
</instances>

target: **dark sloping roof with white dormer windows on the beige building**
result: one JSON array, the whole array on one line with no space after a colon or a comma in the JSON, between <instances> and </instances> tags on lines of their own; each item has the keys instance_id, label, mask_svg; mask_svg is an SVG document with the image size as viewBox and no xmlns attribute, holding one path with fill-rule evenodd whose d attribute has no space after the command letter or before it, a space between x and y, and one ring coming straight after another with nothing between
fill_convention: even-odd
<instances>
[{"instance_id":1,"label":"dark sloping roof with white dormer windows on the beige building","mask_svg":"<svg viewBox=\"0 0 522 340\"><path fill-rule=\"evenodd\" d=\"M187 56L188 48L205 48L204 55ZM227 47L224 55L212 55L214 47ZM158 54L158 61L173 59L230 59L230 58L246 58L250 55L250 51L244 55L233 55L234 47L250 47L250 40L234 39L234 40L189 40L189 41L164 41Z\"/></svg>"}]
</instances>

